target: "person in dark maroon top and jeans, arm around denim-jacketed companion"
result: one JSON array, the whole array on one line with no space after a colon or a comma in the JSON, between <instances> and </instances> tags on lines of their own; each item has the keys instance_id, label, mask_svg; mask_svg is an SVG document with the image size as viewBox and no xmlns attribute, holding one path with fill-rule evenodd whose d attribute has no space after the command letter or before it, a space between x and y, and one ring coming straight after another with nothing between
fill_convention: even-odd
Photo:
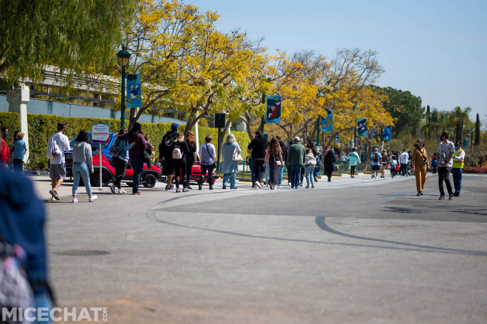
<instances>
[{"instance_id":1,"label":"person in dark maroon top and jeans, arm around denim-jacketed companion","mask_svg":"<svg viewBox=\"0 0 487 324\"><path fill-rule=\"evenodd\" d=\"M142 135L142 126L140 123L135 122L129 133L118 135L118 139L126 139L133 146L129 150L130 164L133 170L133 187L132 194L142 194L139 191L140 177L142 170L144 169L144 151L147 150L146 139Z\"/></svg>"}]
</instances>

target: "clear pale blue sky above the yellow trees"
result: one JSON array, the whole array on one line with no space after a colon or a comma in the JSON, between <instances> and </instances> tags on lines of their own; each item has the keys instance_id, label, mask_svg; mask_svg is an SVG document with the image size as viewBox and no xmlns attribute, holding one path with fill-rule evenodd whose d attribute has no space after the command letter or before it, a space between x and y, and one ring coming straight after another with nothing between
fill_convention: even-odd
<instances>
[{"instance_id":1,"label":"clear pale blue sky above the yellow trees","mask_svg":"<svg viewBox=\"0 0 487 324\"><path fill-rule=\"evenodd\" d=\"M218 11L221 31L265 37L269 53L373 49L379 86L409 90L439 110L471 107L486 119L487 0L187 0Z\"/></svg>"}]
</instances>

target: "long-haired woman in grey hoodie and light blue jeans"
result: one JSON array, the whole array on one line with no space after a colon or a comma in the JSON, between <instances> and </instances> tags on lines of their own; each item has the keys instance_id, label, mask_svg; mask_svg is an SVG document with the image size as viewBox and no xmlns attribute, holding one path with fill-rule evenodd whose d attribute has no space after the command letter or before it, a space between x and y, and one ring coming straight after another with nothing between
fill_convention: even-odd
<instances>
[{"instance_id":1,"label":"long-haired woman in grey hoodie and light blue jeans","mask_svg":"<svg viewBox=\"0 0 487 324\"><path fill-rule=\"evenodd\" d=\"M88 142L88 132L81 130L76 136L75 144L73 144L73 202L78 203L77 190L80 177L83 178L88 200L94 202L97 198L92 194L90 184L90 173L94 173L93 169L93 151L91 144Z\"/></svg>"}]
</instances>

